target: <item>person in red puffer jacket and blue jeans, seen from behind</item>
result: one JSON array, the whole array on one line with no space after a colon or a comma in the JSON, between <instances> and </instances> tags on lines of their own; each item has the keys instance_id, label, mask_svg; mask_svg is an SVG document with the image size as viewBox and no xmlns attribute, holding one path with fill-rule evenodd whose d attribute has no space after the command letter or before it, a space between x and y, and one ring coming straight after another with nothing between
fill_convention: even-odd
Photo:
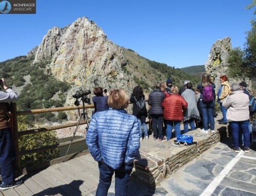
<instances>
[{"instance_id":1,"label":"person in red puffer jacket and blue jeans, seen from behind","mask_svg":"<svg viewBox=\"0 0 256 196\"><path fill-rule=\"evenodd\" d=\"M173 86L170 95L162 102L163 118L166 120L166 139L172 138L173 127L175 136L180 135L180 122L183 120L183 110L187 108L187 102L178 94L179 89Z\"/></svg>"}]
</instances>

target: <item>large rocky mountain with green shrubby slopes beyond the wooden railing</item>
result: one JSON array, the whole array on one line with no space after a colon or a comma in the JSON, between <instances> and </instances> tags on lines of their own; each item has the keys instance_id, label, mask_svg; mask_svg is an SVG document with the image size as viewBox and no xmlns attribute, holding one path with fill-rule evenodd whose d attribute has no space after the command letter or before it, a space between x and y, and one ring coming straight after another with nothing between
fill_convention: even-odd
<instances>
[{"instance_id":1,"label":"large rocky mountain with green shrubby slopes beyond the wooden railing","mask_svg":"<svg viewBox=\"0 0 256 196\"><path fill-rule=\"evenodd\" d=\"M185 79L194 85L199 81L180 69L115 45L85 17L65 28L50 29L28 56L1 62L0 72L18 90L19 106L24 110L73 105L72 95L81 88L122 88L131 94L141 85L149 93L168 77L179 87Z\"/></svg>"}]
</instances>

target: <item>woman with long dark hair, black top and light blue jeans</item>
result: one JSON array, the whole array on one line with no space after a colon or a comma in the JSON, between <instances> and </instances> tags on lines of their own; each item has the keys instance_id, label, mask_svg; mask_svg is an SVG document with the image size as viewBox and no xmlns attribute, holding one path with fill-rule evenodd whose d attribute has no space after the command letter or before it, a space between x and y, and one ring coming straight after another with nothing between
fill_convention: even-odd
<instances>
[{"instance_id":1,"label":"woman with long dark hair, black top and light blue jeans","mask_svg":"<svg viewBox=\"0 0 256 196\"><path fill-rule=\"evenodd\" d=\"M146 126L146 117L147 117L147 111L146 106L144 104L143 108L140 108L138 105L138 102L145 103L145 95L143 94L143 89L140 86L135 86L133 89L132 96L130 98L130 102L133 103L133 115L138 118L139 121L139 127L140 127L140 141L142 141L142 129L141 125L143 127L144 137L145 139L148 139L148 133L147 133L147 126Z\"/></svg>"}]
</instances>

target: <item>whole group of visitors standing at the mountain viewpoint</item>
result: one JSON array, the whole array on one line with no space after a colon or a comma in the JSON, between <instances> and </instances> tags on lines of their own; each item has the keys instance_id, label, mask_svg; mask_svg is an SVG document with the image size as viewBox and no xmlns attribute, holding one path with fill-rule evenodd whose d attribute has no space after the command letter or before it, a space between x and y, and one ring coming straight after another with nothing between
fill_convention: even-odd
<instances>
[{"instance_id":1,"label":"whole group of visitors standing at the mountain viewpoint","mask_svg":"<svg viewBox=\"0 0 256 196\"><path fill-rule=\"evenodd\" d=\"M232 84L229 86L226 76L220 77L221 88L218 91L218 102L223 118L220 124L229 121L233 151L239 151L242 142L243 150L249 151L249 92L247 84ZM2 183L0 189L5 190L22 184L15 181L15 153L11 131L8 102L16 101L18 95L9 89L4 79L0 85L5 92L0 91L0 165ZM127 195L127 184L133 169L133 161L138 156L142 129L144 138L148 139L146 118L151 116L153 121L153 139L170 140L172 130L175 136L181 134L180 124L184 123L184 133L196 128L195 121L202 120L203 133L215 132L215 84L210 76L202 74L201 82L194 91L193 85L185 80L179 90L172 84L170 78L166 83L156 84L156 89L148 97L150 110L145 106L145 95L140 86L133 89L131 97L121 89L108 93L101 87L94 89L92 98L95 111L87 132L86 143L100 171L96 195L107 195L115 173L115 190L120 195ZM206 91L207 90L207 91ZM208 92L208 94L206 94ZM207 100L204 96L209 96ZM133 103L133 115L125 108ZM163 124L166 127L163 132ZM165 138L166 136L166 138ZM243 136L243 138L241 137Z\"/></svg>"}]
</instances>

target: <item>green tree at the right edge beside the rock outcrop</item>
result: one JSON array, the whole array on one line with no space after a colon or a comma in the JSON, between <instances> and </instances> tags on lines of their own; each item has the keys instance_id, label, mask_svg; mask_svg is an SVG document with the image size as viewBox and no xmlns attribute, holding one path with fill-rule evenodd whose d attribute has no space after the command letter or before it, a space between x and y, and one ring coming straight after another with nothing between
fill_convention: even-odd
<instances>
[{"instance_id":1,"label":"green tree at the right edge beside the rock outcrop","mask_svg":"<svg viewBox=\"0 0 256 196\"><path fill-rule=\"evenodd\" d=\"M256 7L256 0L247 6L247 9ZM256 10L254 10L254 15ZM228 57L228 74L231 77L255 77L256 68L256 21L253 18L251 21L251 30L247 32L244 50L234 48L230 50Z\"/></svg>"}]
</instances>

